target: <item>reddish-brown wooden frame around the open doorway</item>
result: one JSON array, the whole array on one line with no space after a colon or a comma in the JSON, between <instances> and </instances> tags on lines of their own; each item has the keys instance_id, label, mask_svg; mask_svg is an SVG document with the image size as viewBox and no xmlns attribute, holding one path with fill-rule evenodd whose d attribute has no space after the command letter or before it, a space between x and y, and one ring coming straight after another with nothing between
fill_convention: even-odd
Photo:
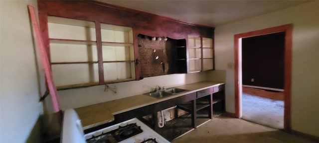
<instances>
[{"instance_id":1,"label":"reddish-brown wooden frame around the open doorway","mask_svg":"<svg viewBox=\"0 0 319 143\"><path fill-rule=\"evenodd\" d=\"M242 67L241 39L271 33L285 32L285 91L284 130L291 131L291 75L292 75L292 24L234 35L235 54L235 115L241 118Z\"/></svg>"}]
</instances>

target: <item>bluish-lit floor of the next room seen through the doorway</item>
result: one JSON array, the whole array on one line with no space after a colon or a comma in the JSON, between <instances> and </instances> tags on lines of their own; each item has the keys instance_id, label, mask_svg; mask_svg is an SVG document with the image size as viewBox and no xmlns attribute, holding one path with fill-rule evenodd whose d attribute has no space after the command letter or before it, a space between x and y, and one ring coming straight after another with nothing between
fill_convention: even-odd
<instances>
[{"instance_id":1,"label":"bluish-lit floor of the next room seen through the doorway","mask_svg":"<svg viewBox=\"0 0 319 143\"><path fill-rule=\"evenodd\" d=\"M277 129L283 129L284 101L243 93L242 119Z\"/></svg>"}]
</instances>

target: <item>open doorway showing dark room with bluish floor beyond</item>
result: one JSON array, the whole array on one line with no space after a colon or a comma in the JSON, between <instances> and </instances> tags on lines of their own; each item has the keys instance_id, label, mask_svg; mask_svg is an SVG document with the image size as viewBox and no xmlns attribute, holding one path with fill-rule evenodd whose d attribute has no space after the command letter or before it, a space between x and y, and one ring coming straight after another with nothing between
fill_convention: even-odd
<instances>
[{"instance_id":1,"label":"open doorway showing dark room with bluish floor beyond","mask_svg":"<svg viewBox=\"0 0 319 143\"><path fill-rule=\"evenodd\" d=\"M242 119L284 128L284 57L285 32L242 38Z\"/></svg>"}]
</instances>

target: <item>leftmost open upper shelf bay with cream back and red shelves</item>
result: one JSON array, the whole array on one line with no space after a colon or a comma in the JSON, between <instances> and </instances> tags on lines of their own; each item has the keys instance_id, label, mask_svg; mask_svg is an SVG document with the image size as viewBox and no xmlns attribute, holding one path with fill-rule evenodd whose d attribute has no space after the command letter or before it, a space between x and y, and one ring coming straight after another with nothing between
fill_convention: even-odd
<instances>
[{"instance_id":1,"label":"leftmost open upper shelf bay with cream back and red shelves","mask_svg":"<svg viewBox=\"0 0 319 143\"><path fill-rule=\"evenodd\" d=\"M98 85L95 23L48 16L50 62L58 89Z\"/></svg>"}]
</instances>

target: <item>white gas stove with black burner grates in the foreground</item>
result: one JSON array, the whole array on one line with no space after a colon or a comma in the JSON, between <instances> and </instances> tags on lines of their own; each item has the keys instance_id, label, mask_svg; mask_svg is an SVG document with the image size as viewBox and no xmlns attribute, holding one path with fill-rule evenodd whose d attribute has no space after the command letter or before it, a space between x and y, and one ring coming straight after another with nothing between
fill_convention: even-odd
<instances>
[{"instance_id":1,"label":"white gas stove with black burner grates in the foreground","mask_svg":"<svg viewBox=\"0 0 319 143\"><path fill-rule=\"evenodd\" d=\"M88 134L73 109L64 112L61 143L169 143L140 120L133 118Z\"/></svg>"}]
</instances>

